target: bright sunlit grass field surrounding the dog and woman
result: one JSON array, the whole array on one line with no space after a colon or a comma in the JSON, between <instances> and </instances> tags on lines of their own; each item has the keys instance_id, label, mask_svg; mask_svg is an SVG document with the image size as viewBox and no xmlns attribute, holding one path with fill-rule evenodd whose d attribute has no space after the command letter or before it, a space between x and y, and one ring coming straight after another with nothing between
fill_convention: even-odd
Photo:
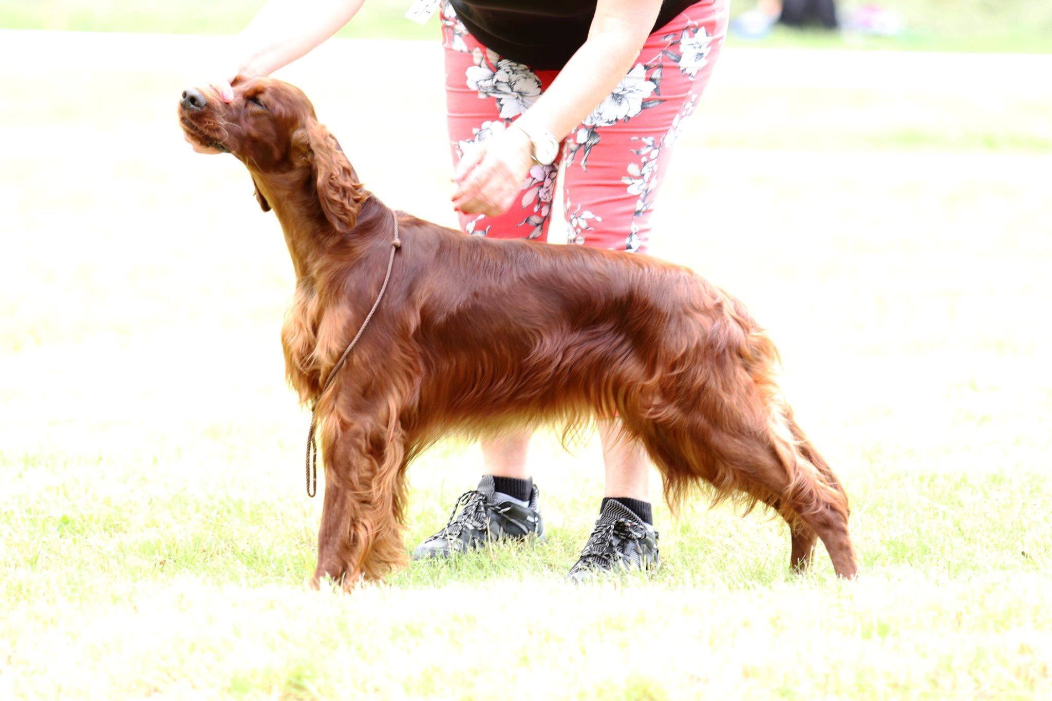
<instances>
[{"instance_id":1,"label":"bright sunlit grass field surrounding the dog and woman","mask_svg":"<svg viewBox=\"0 0 1052 701\"><path fill-rule=\"evenodd\" d=\"M728 51L680 142L654 252L778 343L852 499L856 581L824 551L792 576L783 524L700 496L658 510L653 577L568 585L601 461L542 435L546 543L346 596L306 584L281 232L175 120L210 46L0 36L0 698L1052 695L1047 82L904 89L871 55L865 89L764 84L743 66L810 55ZM434 47L403 49L419 71L380 107L346 66L382 48L286 77L373 191L451 222ZM969 74L936 58L910 60ZM480 472L454 442L411 468L408 547Z\"/></svg>"}]
</instances>

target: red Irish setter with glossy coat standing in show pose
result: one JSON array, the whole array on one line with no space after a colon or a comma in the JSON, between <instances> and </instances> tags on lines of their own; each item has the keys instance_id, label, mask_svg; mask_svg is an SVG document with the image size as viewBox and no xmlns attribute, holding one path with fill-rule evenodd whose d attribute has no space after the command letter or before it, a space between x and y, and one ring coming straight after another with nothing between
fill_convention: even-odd
<instances>
[{"instance_id":1,"label":"red Irish setter with glossy coat standing in show pose","mask_svg":"<svg viewBox=\"0 0 1052 701\"><path fill-rule=\"evenodd\" d=\"M286 372L317 403L325 469L316 581L350 586L406 561L406 466L450 433L619 416L675 507L707 482L789 523L790 562L816 539L855 574L848 500L772 379L777 353L745 307L642 254L467 236L391 210L362 187L306 96L239 81L234 101L187 90L189 138L226 150L274 209L296 269ZM390 284L360 343L325 378Z\"/></svg>"}]
</instances>

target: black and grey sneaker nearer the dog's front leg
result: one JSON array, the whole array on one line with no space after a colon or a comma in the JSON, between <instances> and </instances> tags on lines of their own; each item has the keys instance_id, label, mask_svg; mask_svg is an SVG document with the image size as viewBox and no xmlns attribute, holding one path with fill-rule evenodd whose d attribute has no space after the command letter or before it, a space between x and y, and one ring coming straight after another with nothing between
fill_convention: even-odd
<instances>
[{"instance_id":1,"label":"black and grey sneaker nearer the dog's front leg","mask_svg":"<svg viewBox=\"0 0 1052 701\"><path fill-rule=\"evenodd\" d=\"M491 540L543 538L540 495L533 486L528 502L515 499L495 491L492 476L483 475L478 489L461 494L446 528L417 545L412 559L466 553Z\"/></svg>"}]
</instances>

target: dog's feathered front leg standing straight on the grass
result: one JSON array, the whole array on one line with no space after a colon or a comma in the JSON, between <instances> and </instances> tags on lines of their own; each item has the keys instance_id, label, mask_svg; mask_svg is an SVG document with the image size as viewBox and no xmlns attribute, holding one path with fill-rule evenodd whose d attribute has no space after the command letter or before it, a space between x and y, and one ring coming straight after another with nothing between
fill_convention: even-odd
<instances>
[{"instance_id":1,"label":"dog's feathered front leg standing straight on the grass","mask_svg":"<svg viewBox=\"0 0 1052 701\"><path fill-rule=\"evenodd\" d=\"M315 582L331 577L349 590L406 561L405 434L390 405L352 414L338 406L320 426L325 503Z\"/></svg>"}]
</instances>

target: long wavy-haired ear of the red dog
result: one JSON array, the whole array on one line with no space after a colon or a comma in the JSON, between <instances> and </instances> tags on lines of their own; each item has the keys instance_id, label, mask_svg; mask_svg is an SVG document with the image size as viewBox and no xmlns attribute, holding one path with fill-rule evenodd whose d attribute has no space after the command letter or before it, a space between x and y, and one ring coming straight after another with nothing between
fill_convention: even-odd
<instances>
[{"instance_id":1,"label":"long wavy-haired ear of the red dog","mask_svg":"<svg viewBox=\"0 0 1052 701\"><path fill-rule=\"evenodd\" d=\"M337 230L349 231L355 228L358 211L369 193L328 129L311 121L302 131L303 136L297 136L306 142L305 154L315 169L322 210Z\"/></svg>"}]
</instances>

